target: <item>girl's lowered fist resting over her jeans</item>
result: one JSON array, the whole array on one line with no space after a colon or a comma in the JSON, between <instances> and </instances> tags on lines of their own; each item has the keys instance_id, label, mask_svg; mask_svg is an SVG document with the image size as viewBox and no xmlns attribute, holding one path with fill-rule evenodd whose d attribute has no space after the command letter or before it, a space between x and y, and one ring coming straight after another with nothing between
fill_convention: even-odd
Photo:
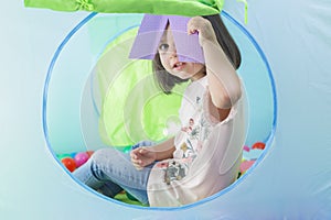
<instances>
[{"instance_id":1,"label":"girl's lowered fist resting over her jeans","mask_svg":"<svg viewBox=\"0 0 331 220\"><path fill-rule=\"evenodd\" d=\"M130 152L131 162L134 166L139 170L145 166L152 164L157 158L157 153L150 151L148 147L140 146Z\"/></svg>"}]
</instances>

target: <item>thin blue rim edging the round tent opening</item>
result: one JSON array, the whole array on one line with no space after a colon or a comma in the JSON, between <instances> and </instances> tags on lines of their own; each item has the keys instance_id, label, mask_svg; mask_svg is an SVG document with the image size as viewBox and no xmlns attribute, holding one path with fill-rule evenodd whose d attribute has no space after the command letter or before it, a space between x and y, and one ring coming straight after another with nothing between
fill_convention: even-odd
<instances>
[{"instance_id":1,"label":"thin blue rim edging the round tent opening","mask_svg":"<svg viewBox=\"0 0 331 220\"><path fill-rule=\"evenodd\" d=\"M47 148L50 150L51 154L53 155L54 160L57 162L57 164L63 167L64 172L66 172L77 184L79 184L83 188L85 188L87 191L90 191L92 194L102 197L110 202L115 202L121 206L126 206L129 208L134 208L134 209L148 209L148 210L161 210L161 211L175 211L175 210L184 210L184 209L191 209L197 206L201 206L203 204L206 204L211 200L217 199L218 197L222 197L223 195L227 194L228 191L232 191L236 188L237 185L242 184L246 177L248 175L250 175L252 172L254 172L255 167L258 166L260 164L260 162L265 158L267 152L269 151L269 148L271 147L273 141L274 141L274 136L275 136L275 132L276 132L276 128L277 128L277 92L276 92L276 84L275 84L275 79L273 77L273 73L271 73L271 68L269 66L269 63L267 61L267 57L265 55L265 53L263 52L263 50L260 48L260 46L258 45L258 43L255 41L255 38L253 37L253 35L238 22L236 21L233 16L231 16L227 12L225 12L224 10L221 12L222 15L224 15L226 19L228 19L232 23L234 23L247 37L248 40L253 43L253 45L255 46L255 48L257 50L258 54L260 55L264 64L266 65L267 72L268 72L268 77L270 79L270 84L271 84L271 90L273 90L273 102L274 102L274 120L273 120L273 127L271 127L271 131L269 133L269 135L266 139L266 147L265 151L263 152L263 154L256 160L256 162L254 163L254 165L239 178L237 179L234 184L229 185L228 187L226 187L225 189L218 191L217 194L214 194L213 196L210 196L207 198L201 199L194 204L190 204L190 205L184 205L182 207L174 207L174 208L169 208L169 207L140 207L140 206L136 206L136 205L129 205L129 204L124 204L121 201L111 199L109 197L106 197L104 195L98 194L97 191L93 190L92 188L89 188L88 186L84 185L83 183L81 183L78 179L76 179L70 170L67 170L65 168L65 166L61 163L61 161L57 158L56 153L54 152L54 150L52 148L51 142L50 142L50 135L49 135L49 129L47 129L47 94L49 94L49 86L50 86L50 80L52 77L52 72L53 68L56 64L56 61L62 52L62 50L64 48L64 46L70 42L70 40L72 38L72 36L82 28L84 26L88 21L90 21L94 16L96 16L98 13L97 12L92 12L89 13L85 19L83 19L67 35L66 37L63 40L63 42L60 44L60 46L57 47L57 50L54 53L54 56L50 63L49 69L47 69L47 74L46 74L46 78L45 78L45 82L44 82L44 89L43 89L43 103L42 103L42 124L43 124L43 133L44 133L44 139L46 141L46 145Z\"/></svg>"}]
</instances>

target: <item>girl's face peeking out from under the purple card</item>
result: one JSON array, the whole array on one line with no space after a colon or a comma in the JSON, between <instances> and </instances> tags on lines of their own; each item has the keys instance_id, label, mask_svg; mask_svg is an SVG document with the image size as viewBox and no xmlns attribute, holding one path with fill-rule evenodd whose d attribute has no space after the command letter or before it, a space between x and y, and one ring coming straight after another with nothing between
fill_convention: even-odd
<instances>
[{"instance_id":1,"label":"girl's face peeking out from under the purple card","mask_svg":"<svg viewBox=\"0 0 331 220\"><path fill-rule=\"evenodd\" d=\"M179 62L172 32L169 29L169 25L159 43L158 52L164 69L171 75L181 79L191 80L200 79L205 75L203 64Z\"/></svg>"}]
</instances>

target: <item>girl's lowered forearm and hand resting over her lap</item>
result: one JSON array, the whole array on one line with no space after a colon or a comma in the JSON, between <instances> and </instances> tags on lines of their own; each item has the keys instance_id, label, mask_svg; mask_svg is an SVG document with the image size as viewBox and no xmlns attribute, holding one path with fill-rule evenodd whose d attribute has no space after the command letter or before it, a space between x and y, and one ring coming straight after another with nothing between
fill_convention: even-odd
<instances>
[{"instance_id":1,"label":"girl's lowered forearm and hand resting over her lap","mask_svg":"<svg viewBox=\"0 0 331 220\"><path fill-rule=\"evenodd\" d=\"M174 150L174 138L171 138L153 146L141 146L132 150L130 152L131 162L137 169L141 169L142 167L152 164L154 161L172 158Z\"/></svg>"}]
</instances>

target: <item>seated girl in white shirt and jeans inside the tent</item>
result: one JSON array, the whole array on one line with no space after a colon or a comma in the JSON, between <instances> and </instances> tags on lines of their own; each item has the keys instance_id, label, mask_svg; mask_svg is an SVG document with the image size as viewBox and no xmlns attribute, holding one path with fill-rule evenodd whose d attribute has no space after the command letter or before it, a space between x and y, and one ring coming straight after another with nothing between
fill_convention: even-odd
<instances>
[{"instance_id":1,"label":"seated girl in white shirt and jeans inside the tent","mask_svg":"<svg viewBox=\"0 0 331 220\"><path fill-rule=\"evenodd\" d=\"M205 64L179 61L169 23L153 62L166 94L191 80L180 108L182 129L163 143L140 143L129 155L98 150L74 172L89 187L109 197L125 189L142 204L174 207L211 196L236 179L245 140L236 74L239 51L220 14L192 18L185 31L199 33Z\"/></svg>"}]
</instances>

